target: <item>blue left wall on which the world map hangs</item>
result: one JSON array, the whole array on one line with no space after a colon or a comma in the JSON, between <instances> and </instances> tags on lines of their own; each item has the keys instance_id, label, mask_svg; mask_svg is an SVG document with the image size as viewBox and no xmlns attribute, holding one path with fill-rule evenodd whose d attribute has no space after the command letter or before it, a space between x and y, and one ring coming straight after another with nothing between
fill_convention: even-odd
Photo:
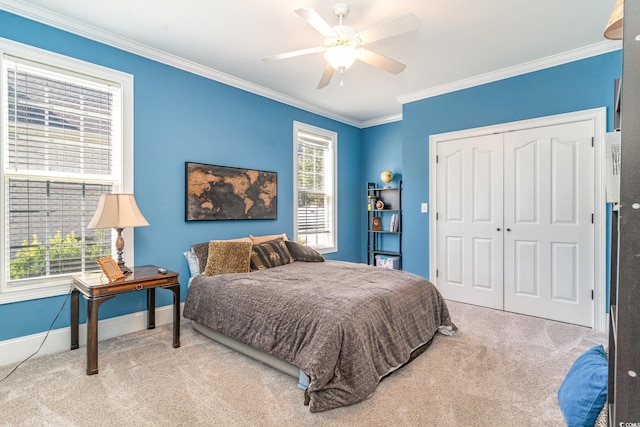
<instances>
[{"instance_id":1,"label":"blue left wall on which the world map hangs","mask_svg":"<svg viewBox=\"0 0 640 427\"><path fill-rule=\"evenodd\" d=\"M292 235L294 120L338 133L339 252L327 258L361 260L360 129L3 11L0 37L134 76L134 191L151 224L135 230L135 262L178 271L183 300L188 269L182 253L192 243ZM185 222L186 161L277 172L278 219ZM145 310L145 295L118 296L101 307L100 318ZM0 341L46 331L64 298L0 305ZM158 306L170 303L169 292L158 292ZM54 329L68 325L67 304Z\"/></svg>"}]
</instances>

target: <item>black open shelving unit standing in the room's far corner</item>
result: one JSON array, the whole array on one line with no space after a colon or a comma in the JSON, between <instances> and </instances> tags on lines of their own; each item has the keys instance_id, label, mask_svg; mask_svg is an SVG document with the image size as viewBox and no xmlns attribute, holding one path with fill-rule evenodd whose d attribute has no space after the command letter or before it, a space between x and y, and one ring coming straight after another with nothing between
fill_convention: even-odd
<instances>
[{"instance_id":1,"label":"black open shelving unit standing in the room's far corner","mask_svg":"<svg viewBox=\"0 0 640 427\"><path fill-rule=\"evenodd\" d=\"M370 200L382 201L382 209L371 205ZM391 217L396 225L391 229ZM373 218L380 218L381 230L373 229ZM367 264L376 265L376 255L398 257L398 269L402 269L402 181L397 186L383 187L367 183Z\"/></svg>"}]
</instances>

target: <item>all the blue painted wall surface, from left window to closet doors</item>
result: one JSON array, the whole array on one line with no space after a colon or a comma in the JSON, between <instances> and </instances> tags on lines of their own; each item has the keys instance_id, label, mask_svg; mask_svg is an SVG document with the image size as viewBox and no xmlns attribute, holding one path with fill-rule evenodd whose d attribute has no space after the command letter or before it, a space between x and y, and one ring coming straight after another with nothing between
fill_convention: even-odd
<instances>
[{"instance_id":1,"label":"all the blue painted wall surface, from left window to closet doors","mask_svg":"<svg viewBox=\"0 0 640 427\"><path fill-rule=\"evenodd\" d=\"M429 275L429 135L606 106L621 52L407 104L403 121L357 129L288 105L0 11L0 37L134 75L135 194L151 226L135 230L136 264L178 271L182 299L194 242L247 234L292 234L293 121L338 133L339 252L365 261L364 188L390 169L403 179L403 268ZM275 221L184 221L184 162L278 172ZM64 297L0 305L0 341L48 329ZM170 304L158 293L158 306ZM81 310L84 306L81 306ZM100 318L146 308L144 293L105 303ZM84 316L82 320L84 321ZM54 328L69 325L65 307Z\"/></svg>"}]
</instances>

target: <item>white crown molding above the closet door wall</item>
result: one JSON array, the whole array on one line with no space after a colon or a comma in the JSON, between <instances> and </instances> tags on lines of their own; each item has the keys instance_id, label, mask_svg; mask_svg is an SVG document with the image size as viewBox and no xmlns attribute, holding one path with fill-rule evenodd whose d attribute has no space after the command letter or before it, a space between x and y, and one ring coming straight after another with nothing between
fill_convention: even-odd
<instances>
[{"instance_id":1,"label":"white crown molding above the closet door wall","mask_svg":"<svg viewBox=\"0 0 640 427\"><path fill-rule=\"evenodd\" d=\"M449 92L468 89L470 87L480 86L480 85L492 83L498 80L504 80L510 77L515 77L522 74L543 70L545 68L556 67L558 65L563 65L569 62L590 58L592 56L602 55L602 54L613 52L620 49L622 49L622 43L620 41L603 41L603 42L595 43L589 46L559 53L557 55L551 55L545 58L536 59L534 61L518 64L513 67L507 67L501 70L492 71L490 73L470 77L468 79L462 79L455 82L446 83L440 86L435 86L432 88L409 93L406 95L401 95L396 99L401 104L406 104L409 102L419 101L421 99L443 95Z\"/></svg>"}]
</instances>

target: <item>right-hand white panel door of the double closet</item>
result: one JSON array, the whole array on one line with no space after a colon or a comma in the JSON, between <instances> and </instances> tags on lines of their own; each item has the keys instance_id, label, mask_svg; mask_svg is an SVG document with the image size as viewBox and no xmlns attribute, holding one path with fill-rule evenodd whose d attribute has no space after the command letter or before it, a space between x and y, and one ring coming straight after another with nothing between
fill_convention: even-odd
<instances>
[{"instance_id":1,"label":"right-hand white panel door of the double closet","mask_svg":"<svg viewBox=\"0 0 640 427\"><path fill-rule=\"evenodd\" d=\"M504 309L593 324L593 125L505 134Z\"/></svg>"}]
</instances>

